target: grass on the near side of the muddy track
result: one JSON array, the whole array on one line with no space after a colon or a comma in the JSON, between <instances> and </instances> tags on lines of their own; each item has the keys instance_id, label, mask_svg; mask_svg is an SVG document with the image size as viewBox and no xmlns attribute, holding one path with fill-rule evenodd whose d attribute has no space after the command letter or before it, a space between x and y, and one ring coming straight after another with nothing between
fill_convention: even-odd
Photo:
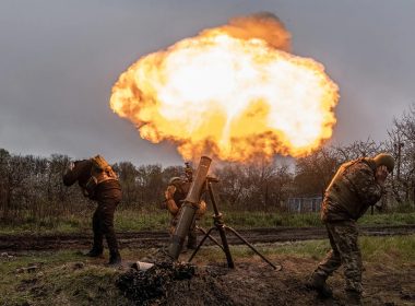
<instances>
[{"instance_id":1,"label":"grass on the near side of the muddy track","mask_svg":"<svg viewBox=\"0 0 415 306\"><path fill-rule=\"evenodd\" d=\"M360 237L365 262L390 269L413 269L415 235L393 237ZM308 240L274 245L257 245L263 255L276 262L292 258L298 264L315 264L329 249L328 240ZM140 259L154 250L121 250L124 259ZM254 254L246 246L232 246L237 262ZM215 246L203 247L197 262L226 262ZM315 263L313 263L315 262ZM104 267L103 260L85 259L78 251L32 252L0 257L0 305L129 305L115 285L120 271ZM34 272L20 272L36 266ZM406 268L405 268L406 267ZM304 270L304 268L303 268ZM305 273L307 271L303 271Z\"/></svg>"}]
</instances>

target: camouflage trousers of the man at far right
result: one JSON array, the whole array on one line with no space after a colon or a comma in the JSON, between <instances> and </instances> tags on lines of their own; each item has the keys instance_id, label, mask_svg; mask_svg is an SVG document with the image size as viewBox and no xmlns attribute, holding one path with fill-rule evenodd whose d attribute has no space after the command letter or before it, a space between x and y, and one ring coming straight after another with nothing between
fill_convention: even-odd
<instances>
[{"instance_id":1,"label":"camouflage trousers of the man at far right","mask_svg":"<svg viewBox=\"0 0 415 306\"><path fill-rule=\"evenodd\" d=\"M325 223L331 250L315 273L327 279L343 264L346 291L361 294L361 254L357 244L358 231L354 221Z\"/></svg>"}]
</instances>

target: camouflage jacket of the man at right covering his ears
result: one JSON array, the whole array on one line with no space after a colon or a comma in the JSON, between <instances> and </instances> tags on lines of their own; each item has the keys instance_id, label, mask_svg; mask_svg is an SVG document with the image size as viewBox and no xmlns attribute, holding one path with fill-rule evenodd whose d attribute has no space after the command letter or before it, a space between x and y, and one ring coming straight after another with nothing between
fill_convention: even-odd
<instances>
[{"instance_id":1,"label":"camouflage jacket of the man at right covering his ears","mask_svg":"<svg viewBox=\"0 0 415 306\"><path fill-rule=\"evenodd\" d=\"M325 190L322 221L357 220L378 202L383 188L376 181L375 173L376 165L370 158L343 164Z\"/></svg>"}]
</instances>

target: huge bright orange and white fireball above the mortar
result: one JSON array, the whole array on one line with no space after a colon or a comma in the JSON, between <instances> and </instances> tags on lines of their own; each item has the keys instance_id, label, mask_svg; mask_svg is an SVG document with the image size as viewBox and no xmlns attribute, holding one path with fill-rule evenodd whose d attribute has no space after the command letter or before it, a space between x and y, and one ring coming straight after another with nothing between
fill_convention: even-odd
<instances>
[{"instance_id":1,"label":"huge bright orange and white fireball above the mortar","mask_svg":"<svg viewBox=\"0 0 415 306\"><path fill-rule=\"evenodd\" d=\"M247 161L317 149L332 134L337 92L321 63L220 27L141 58L110 107L186 160Z\"/></svg>"}]
</instances>

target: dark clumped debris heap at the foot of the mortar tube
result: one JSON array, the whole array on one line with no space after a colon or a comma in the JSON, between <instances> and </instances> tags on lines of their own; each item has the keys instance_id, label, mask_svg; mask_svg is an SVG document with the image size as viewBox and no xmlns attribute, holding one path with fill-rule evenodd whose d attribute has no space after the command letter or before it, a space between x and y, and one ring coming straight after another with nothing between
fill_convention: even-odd
<instances>
[{"instance_id":1,"label":"dark clumped debris heap at the foot of the mortar tube","mask_svg":"<svg viewBox=\"0 0 415 306\"><path fill-rule=\"evenodd\" d=\"M149 305L164 297L171 282L190 280L195 266L180 262L156 262L145 271L130 269L117 280L117 286L135 305Z\"/></svg>"}]
</instances>

